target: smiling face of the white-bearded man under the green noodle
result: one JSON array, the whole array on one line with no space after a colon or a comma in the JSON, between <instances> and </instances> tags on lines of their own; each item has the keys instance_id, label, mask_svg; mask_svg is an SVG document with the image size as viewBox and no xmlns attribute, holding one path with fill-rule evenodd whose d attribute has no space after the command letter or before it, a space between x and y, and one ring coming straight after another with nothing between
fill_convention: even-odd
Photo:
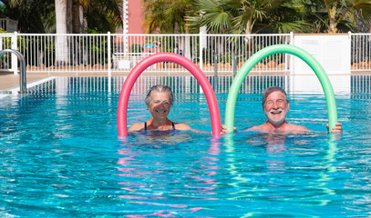
<instances>
[{"instance_id":1,"label":"smiling face of the white-bearded man under the green noodle","mask_svg":"<svg viewBox=\"0 0 371 218\"><path fill-rule=\"evenodd\" d=\"M284 124L287 112L290 110L290 104L285 99L283 93L275 91L268 94L263 104L263 112L268 122L276 127Z\"/></svg>"}]
</instances>

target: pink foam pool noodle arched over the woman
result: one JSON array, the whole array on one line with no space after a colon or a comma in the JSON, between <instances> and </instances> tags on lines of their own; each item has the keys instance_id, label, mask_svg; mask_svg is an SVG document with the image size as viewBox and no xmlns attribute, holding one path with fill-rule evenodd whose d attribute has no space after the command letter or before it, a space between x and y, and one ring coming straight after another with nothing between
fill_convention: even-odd
<instances>
[{"instance_id":1,"label":"pink foam pool noodle arched over the woman","mask_svg":"<svg viewBox=\"0 0 371 218\"><path fill-rule=\"evenodd\" d=\"M142 61L139 62L130 72L128 78L122 86L121 93L119 94L119 106L118 106L118 131L119 136L127 136L127 116L128 116L128 103L131 89L134 83L137 81L139 75L145 71L150 65L159 62L172 62L182 65L188 71L193 74L197 79L201 88L206 96L206 100L209 104L210 115L211 115L211 128L212 134L220 134L221 132L221 115L219 113L219 106L216 101L216 96L211 88L209 80L206 78L205 74L202 73L201 69L191 62L190 59L173 53L157 53L152 54Z\"/></svg>"}]
</instances>

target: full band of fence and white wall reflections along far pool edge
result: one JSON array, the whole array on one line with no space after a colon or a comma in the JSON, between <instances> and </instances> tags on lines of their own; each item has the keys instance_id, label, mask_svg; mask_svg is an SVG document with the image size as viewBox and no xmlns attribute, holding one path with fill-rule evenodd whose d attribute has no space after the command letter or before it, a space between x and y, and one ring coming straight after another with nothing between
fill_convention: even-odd
<instances>
[{"instance_id":1,"label":"full band of fence and white wall reflections along far pool edge","mask_svg":"<svg viewBox=\"0 0 371 218\"><path fill-rule=\"evenodd\" d=\"M233 77L230 75L207 76L216 94L227 94ZM371 93L371 75L328 75L335 94ZM115 77L57 77L44 84L29 87L30 94L81 94L88 92L113 92L119 94L126 76ZM194 76L139 76L131 94L146 94L155 84L167 84L176 94L201 93L201 86ZM289 94L323 94L315 74L311 75L247 75L240 93L261 94L269 86L281 86Z\"/></svg>"}]
</instances>

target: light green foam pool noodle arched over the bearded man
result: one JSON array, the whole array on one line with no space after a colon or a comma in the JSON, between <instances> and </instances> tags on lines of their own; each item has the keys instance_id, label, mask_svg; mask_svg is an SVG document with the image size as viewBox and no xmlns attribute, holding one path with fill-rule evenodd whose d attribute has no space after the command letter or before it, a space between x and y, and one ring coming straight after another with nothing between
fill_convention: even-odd
<instances>
[{"instance_id":1,"label":"light green foam pool noodle arched over the bearded man","mask_svg":"<svg viewBox=\"0 0 371 218\"><path fill-rule=\"evenodd\" d=\"M327 74L325 73L324 68L319 64L314 57L307 53L304 49L299 48L294 45L271 45L263 48L259 52L253 54L245 64L242 65L239 72L233 79L225 109L224 122L227 127L227 130L232 133L234 126L234 111L236 107L237 94L241 88L242 82L247 74L252 70L252 67L255 64L258 64L265 57L272 54L293 54L301 58L306 64L308 64L314 73L317 75L322 88L324 89L325 99L327 104L327 114L328 114L328 123L329 130L331 130L337 123L337 112L336 112L336 103L335 103L335 94L333 86L328 79Z\"/></svg>"}]
</instances>

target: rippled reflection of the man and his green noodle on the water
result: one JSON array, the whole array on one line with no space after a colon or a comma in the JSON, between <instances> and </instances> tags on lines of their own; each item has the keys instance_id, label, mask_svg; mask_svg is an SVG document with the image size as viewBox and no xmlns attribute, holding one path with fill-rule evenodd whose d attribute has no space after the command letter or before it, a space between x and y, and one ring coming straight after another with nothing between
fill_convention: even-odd
<instances>
[{"instance_id":1,"label":"rippled reflection of the man and his green noodle on the water","mask_svg":"<svg viewBox=\"0 0 371 218\"><path fill-rule=\"evenodd\" d=\"M331 185L334 178L331 175L336 172L332 165L336 162L336 141L332 138L327 139L329 144L327 150L315 145L326 140L326 134L250 133L237 138L228 136L225 139L225 145L228 147L226 151L230 153L229 169L235 180L233 185L239 187L240 191L243 190L243 193L249 195L250 199L256 198L258 194L267 199L300 202L299 196L311 193L314 195L306 203L322 206L331 203L321 197L315 197L335 194ZM249 156L252 157L242 159L239 155L241 151L238 151L242 144L250 146ZM254 164L242 166L241 162ZM249 171L254 173L244 175L241 173L243 167L248 167ZM324 170L325 172L322 172ZM243 189L245 186L247 188ZM251 193L251 190L260 193Z\"/></svg>"}]
</instances>

